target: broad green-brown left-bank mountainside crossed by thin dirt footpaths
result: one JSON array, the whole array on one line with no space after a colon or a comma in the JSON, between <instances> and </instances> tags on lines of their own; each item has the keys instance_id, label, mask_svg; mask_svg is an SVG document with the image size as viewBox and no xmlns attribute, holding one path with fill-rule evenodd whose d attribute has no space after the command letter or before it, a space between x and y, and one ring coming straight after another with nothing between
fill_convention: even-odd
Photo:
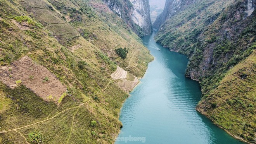
<instances>
[{"instance_id":1,"label":"broad green-brown left-bank mountainside crossed by thin dirt footpaths","mask_svg":"<svg viewBox=\"0 0 256 144\"><path fill-rule=\"evenodd\" d=\"M101 0L0 0L0 76L16 82L0 82L0 143L31 142L33 132L45 143L114 142L128 94L110 75L118 64L142 77L152 59ZM45 100L27 87L54 82L67 90Z\"/></svg>"}]
</instances>

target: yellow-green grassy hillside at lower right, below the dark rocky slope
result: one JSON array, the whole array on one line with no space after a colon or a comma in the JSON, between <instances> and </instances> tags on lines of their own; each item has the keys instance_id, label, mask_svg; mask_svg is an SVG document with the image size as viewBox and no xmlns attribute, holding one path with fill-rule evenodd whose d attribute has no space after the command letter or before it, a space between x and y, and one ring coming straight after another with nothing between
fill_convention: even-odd
<instances>
[{"instance_id":1,"label":"yellow-green grassy hillside at lower right, below the dark rocky slope","mask_svg":"<svg viewBox=\"0 0 256 144\"><path fill-rule=\"evenodd\" d=\"M256 50L229 70L219 86L204 96L197 110L217 125L255 142Z\"/></svg>"}]
</instances>

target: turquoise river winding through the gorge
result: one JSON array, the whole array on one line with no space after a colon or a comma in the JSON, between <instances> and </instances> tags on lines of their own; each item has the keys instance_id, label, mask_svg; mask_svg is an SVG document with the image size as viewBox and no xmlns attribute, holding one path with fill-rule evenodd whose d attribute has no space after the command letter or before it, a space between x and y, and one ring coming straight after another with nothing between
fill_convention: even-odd
<instances>
[{"instance_id":1,"label":"turquoise river winding through the gorge","mask_svg":"<svg viewBox=\"0 0 256 144\"><path fill-rule=\"evenodd\" d=\"M154 35L145 36L143 43L155 60L123 104L123 128L115 143L242 143L195 110L201 89L197 81L185 77L187 57L163 48Z\"/></svg>"}]
</instances>

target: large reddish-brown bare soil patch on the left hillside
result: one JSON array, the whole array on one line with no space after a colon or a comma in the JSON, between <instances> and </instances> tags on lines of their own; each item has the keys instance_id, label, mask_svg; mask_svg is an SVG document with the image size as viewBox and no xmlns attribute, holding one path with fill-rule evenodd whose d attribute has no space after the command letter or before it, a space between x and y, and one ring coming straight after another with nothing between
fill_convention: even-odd
<instances>
[{"instance_id":1,"label":"large reddish-brown bare soil patch on the left hillside","mask_svg":"<svg viewBox=\"0 0 256 144\"><path fill-rule=\"evenodd\" d=\"M55 103L67 90L48 69L27 56L10 66L0 67L0 81L11 88L19 86L21 82L45 101L53 100Z\"/></svg>"}]
</instances>

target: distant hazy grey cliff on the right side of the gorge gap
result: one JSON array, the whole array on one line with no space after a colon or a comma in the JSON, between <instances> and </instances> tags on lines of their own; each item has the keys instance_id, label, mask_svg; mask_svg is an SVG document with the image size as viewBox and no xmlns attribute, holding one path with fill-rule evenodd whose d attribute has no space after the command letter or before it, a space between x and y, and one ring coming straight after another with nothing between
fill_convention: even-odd
<instances>
[{"instance_id":1,"label":"distant hazy grey cliff on the right side of the gorge gap","mask_svg":"<svg viewBox=\"0 0 256 144\"><path fill-rule=\"evenodd\" d=\"M157 17L153 27L159 29L161 25L175 13L185 9L195 0L166 0L164 11Z\"/></svg>"}]
</instances>

